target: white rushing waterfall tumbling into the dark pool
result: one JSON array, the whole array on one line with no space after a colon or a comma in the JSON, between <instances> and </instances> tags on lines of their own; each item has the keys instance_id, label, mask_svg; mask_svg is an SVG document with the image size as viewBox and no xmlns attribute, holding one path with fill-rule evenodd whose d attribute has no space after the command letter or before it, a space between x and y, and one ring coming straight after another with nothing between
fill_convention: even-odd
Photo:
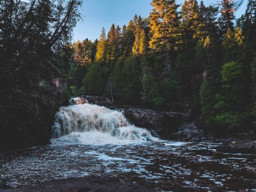
<instances>
[{"instance_id":1,"label":"white rushing waterfall tumbling into the dark pool","mask_svg":"<svg viewBox=\"0 0 256 192\"><path fill-rule=\"evenodd\" d=\"M158 141L143 128L131 125L123 113L85 103L61 107L56 113L52 143L131 143Z\"/></svg>"}]
</instances>

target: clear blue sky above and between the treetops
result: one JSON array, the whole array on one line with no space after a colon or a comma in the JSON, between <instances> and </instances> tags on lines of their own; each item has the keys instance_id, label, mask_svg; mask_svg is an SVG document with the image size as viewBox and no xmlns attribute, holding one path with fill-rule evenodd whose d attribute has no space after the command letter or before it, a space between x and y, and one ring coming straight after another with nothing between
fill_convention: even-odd
<instances>
[{"instance_id":1,"label":"clear blue sky above and between the treetops","mask_svg":"<svg viewBox=\"0 0 256 192\"><path fill-rule=\"evenodd\" d=\"M183 2L184 0L177 0L179 4ZM215 2L215 0L204 0L205 5ZM105 27L106 33L112 23L122 28L135 14L143 18L148 17L152 9L150 3L151 0L84 0L80 10L83 21L79 21L74 28L74 41L82 41L85 38L94 41L100 36L102 27ZM245 12L246 4L247 0L244 0L241 8L236 12L237 17Z\"/></svg>"}]
</instances>

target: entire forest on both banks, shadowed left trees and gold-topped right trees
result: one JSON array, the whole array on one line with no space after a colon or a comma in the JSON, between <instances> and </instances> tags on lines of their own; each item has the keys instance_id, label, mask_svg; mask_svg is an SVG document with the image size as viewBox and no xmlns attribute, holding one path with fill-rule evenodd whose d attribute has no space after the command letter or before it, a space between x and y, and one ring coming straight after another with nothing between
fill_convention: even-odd
<instances>
[{"instance_id":1,"label":"entire forest on both banks, shadowed left trees and gold-topped right trees","mask_svg":"<svg viewBox=\"0 0 256 192\"><path fill-rule=\"evenodd\" d=\"M148 18L73 43L82 1L0 0L0 143L47 142L72 95L187 112L217 132L255 129L256 1L235 18L241 3L152 0Z\"/></svg>"}]
</instances>

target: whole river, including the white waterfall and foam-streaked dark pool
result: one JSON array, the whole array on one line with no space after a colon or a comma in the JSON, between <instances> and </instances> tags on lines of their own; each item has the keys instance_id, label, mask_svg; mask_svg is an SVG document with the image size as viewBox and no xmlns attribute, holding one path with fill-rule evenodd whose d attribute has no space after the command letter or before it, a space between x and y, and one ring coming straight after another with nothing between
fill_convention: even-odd
<instances>
[{"instance_id":1,"label":"whole river, including the white waterfall and foam-streaked dark pool","mask_svg":"<svg viewBox=\"0 0 256 192\"><path fill-rule=\"evenodd\" d=\"M0 183L109 174L165 191L256 191L255 154L219 152L220 143L164 141L105 107L61 107L52 137L49 145L1 151Z\"/></svg>"}]
</instances>

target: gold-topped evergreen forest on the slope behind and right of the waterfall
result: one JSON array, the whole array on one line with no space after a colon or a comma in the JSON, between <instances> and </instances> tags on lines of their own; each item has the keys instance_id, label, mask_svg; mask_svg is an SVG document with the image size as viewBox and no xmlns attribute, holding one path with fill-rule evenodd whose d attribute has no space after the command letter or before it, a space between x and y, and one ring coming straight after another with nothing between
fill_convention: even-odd
<instances>
[{"instance_id":1,"label":"gold-topped evergreen forest on the slope behind and right of the waterfall","mask_svg":"<svg viewBox=\"0 0 256 192\"><path fill-rule=\"evenodd\" d=\"M148 18L70 45L72 95L186 111L216 131L256 126L256 1L152 0Z\"/></svg>"}]
</instances>

